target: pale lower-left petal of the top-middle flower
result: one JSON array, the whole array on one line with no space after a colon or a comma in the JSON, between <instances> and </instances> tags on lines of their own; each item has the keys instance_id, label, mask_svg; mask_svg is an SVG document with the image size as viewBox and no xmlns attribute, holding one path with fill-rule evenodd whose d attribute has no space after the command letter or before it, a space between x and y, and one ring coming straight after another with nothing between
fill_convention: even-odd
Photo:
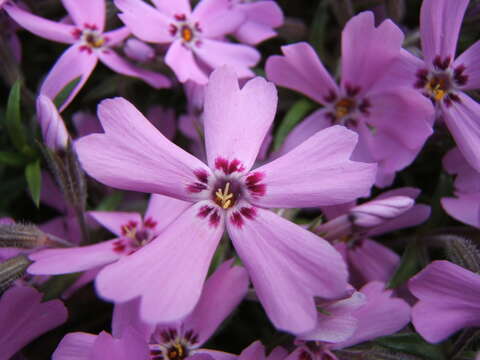
<instances>
[{"instance_id":1,"label":"pale lower-left petal of the top-middle flower","mask_svg":"<svg viewBox=\"0 0 480 360\"><path fill-rule=\"evenodd\" d=\"M170 66L180 82L192 80L198 84L206 84L207 75L200 69L192 50L175 40L165 55L165 63Z\"/></svg>"}]
</instances>

